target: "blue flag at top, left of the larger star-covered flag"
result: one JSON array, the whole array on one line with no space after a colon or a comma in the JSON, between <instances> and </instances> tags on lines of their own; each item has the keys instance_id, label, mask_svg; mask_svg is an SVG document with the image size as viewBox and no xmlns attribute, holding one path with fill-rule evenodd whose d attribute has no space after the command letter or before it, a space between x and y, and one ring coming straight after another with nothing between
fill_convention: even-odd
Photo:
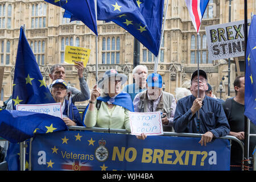
<instances>
[{"instance_id":1,"label":"blue flag at top, left of the larger star-covered flag","mask_svg":"<svg viewBox=\"0 0 256 182\"><path fill-rule=\"evenodd\" d=\"M52 5L60 6L65 16L73 20L81 20L87 27L98 35L94 0L44 0Z\"/></svg>"}]
</instances>

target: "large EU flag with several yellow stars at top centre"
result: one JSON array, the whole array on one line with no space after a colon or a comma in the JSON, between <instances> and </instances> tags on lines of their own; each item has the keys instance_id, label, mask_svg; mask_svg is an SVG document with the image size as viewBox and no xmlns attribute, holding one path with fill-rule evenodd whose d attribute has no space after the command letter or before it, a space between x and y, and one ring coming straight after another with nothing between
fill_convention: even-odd
<instances>
[{"instance_id":1,"label":"large EU flag with several yellow stars at top centre","mask_svg":"<svg viewBox=\"0 0 256 182\"><path fill-rule=\"evenodd\" d=\"M158 56L164 0L97 1L97 19L112 21Z\"/></svg>"}]
</instances>

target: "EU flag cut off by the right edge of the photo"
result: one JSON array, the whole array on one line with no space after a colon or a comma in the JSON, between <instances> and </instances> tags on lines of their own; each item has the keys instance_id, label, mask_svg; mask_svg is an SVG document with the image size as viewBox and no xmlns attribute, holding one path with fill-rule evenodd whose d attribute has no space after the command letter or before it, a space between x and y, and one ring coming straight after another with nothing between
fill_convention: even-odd
<instances>
[{"instance_id":1,"label":"EU flag cut off by the right edge of the photo","mask_svg":"<svg viewBox=\"0 0 256 182\"><path fill-rule=\"evenodd\" d=\"M251 20L246 48L245 115L256 125L256 16Z\"/></svg>"}]
</instances>

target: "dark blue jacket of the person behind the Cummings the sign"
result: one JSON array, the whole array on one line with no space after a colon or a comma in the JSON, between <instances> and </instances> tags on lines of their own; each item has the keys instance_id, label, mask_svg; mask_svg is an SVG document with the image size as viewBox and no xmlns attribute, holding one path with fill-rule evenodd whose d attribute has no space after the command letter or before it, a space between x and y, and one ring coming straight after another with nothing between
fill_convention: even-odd
<instances>
[{"instance_id":1,"label":"dark blue jacket of the person behind the Cummings the sign","mask_svg":"<svg viewBox=\"0 0 256 182\"><path fill-rule=\"evenodd\" d=\"M73 113L72 113L72 111L73 111ZM82 120L81 120L81 117L79 114L79 110L72 103L69 106L69 114L68 114L68 101L67 100L65 100L65 109L62 113L65 115L68 115L68 118L71 119L72 121L75 121L77 126L83 126Z\"/></svg>"}]
</instances>

